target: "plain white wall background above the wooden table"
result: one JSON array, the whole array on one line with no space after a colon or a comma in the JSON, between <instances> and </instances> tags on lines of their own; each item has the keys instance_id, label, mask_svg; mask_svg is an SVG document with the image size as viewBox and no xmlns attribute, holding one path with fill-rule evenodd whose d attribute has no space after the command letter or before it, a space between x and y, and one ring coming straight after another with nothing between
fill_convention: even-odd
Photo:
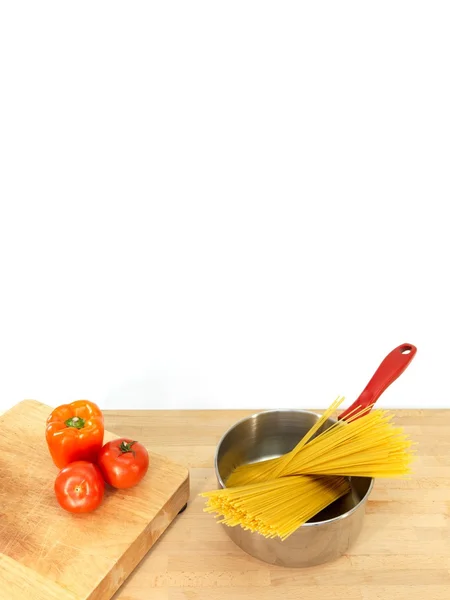
<instances>
[{"instance_id":1,"label":"plain white wall background above the wooden table","mask_svg":"<svg viewBox=\"0 0 450 600\"><path fill-rule=\"evenodd\" d=\"M4 2L0 409L450 408L448 2Z\"/></svg>"}]
</instances>

